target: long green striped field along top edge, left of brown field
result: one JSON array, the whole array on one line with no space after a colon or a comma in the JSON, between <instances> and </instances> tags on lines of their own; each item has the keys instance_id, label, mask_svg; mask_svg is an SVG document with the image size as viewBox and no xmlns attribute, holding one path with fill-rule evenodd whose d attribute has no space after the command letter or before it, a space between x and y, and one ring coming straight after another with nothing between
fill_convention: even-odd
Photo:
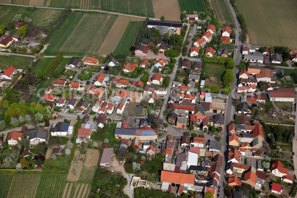
<instances>
[{"instance_id":1,"label":"long green striped field along top edge, left of brown field","mask_svg":"<svg viewBox=\"0 0 297 198\"><path fill-rule=\"evenodd\" d=\"M152 0L50 0L49 7L71 7L85 10L106 10L130 15L154 17Z\"/></svg>"}]
</instances>

